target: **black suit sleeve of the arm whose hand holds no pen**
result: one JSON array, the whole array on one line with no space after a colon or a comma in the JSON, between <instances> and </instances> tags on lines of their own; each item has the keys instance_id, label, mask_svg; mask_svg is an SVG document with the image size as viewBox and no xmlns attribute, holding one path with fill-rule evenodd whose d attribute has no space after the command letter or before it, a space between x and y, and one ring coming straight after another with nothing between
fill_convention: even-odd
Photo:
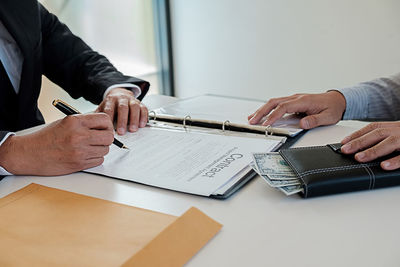
<instances>
[{"instance_id":1,"label":"black suit sleeve of the arm whose hand holds no pen","mask_svg":"<svg viewBox=\"0 0 400 267\"><path fill-rule=\"evenodd\" d=\"M43 72L73 98L84 97L94 104L103 100L105 90L114 84L138 85L141 100L150 84L123 75L110 61L93 51L58 18L39 5L42 32Z\"/></svg>"}]
</instances>

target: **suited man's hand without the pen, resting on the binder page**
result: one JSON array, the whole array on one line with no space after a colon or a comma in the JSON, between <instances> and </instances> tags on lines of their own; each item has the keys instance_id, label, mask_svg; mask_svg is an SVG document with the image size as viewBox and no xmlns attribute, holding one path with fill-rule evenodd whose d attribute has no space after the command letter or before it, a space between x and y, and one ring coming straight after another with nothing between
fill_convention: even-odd
<instances>
[{"instance_id":1,"label":"suited man's hand without the pen, resting on the binder page","mask_svg":"<svg viewBox=\"0 0 400 267\"><path fill-rule=\"evenodd\" d=\"M112 121L117 122L117 133L125 134L128 129L136 132L147 124L148 110L135 98L130 90L124 88L112 89L100 103L96 112L108 114Z\"/></svg>"}]
</instances>

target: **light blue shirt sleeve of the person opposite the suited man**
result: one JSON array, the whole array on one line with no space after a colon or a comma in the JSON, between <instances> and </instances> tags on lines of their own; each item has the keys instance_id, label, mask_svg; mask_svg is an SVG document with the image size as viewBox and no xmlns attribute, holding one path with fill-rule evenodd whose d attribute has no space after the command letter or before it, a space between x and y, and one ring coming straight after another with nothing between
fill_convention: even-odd
<instances>
[{"instance_id":1,"label":"light blue shirt sleeve of the person opposite the suited man","mask_svg":"<svg viewBox=\"0 0 400 267\"><path fill-rule=\"evenodd\" d=\"M346 99L344 120L400 120L400 73L336 90Z\"/></svg>"}]
</instances>

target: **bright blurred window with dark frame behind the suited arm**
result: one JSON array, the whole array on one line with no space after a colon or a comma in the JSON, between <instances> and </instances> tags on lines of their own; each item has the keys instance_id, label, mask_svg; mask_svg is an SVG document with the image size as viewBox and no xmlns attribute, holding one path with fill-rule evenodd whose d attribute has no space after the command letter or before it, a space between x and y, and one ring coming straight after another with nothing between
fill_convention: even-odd
<instances>
[{"instance_id":1,"label":"bright blurred window with dark frame behind the suited arm","mask_svg":"<svg viewBox=\"0 0 400 267\"><path fill-rule=\"evenodd\" d=\"M153 0L42 0L71 31L92 49L105 55L121 72L151 83L149 94L173 95L169 70L170 29L166 1ZM161 26L160 26L161 25ZM168 36L170 34L168 33ZM43 77L39 98L46 122L62 118L52 107L60 98L81 112L96 108L84 99L74 100Z\"/></svg>"}]
</instances>

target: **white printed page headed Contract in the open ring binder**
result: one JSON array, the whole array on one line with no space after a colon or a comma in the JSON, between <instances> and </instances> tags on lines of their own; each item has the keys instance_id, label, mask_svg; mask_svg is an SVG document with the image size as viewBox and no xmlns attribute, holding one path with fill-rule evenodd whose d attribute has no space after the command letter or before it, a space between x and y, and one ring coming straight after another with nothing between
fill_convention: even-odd
<instances>
[{"instance_id":1,"label":"white printed page headed Contract in the open ring binder","mask_svg":"<svg viewBox=\"0 0 400 267\"><path fill-rule=\"evenodd\" d=\"M252 152L280 145L276 139L152 126L118 139L130 150L112 145L104 163L86 172L203 196L226 187L252 161Z\"/></svg>"}]
</instances>

